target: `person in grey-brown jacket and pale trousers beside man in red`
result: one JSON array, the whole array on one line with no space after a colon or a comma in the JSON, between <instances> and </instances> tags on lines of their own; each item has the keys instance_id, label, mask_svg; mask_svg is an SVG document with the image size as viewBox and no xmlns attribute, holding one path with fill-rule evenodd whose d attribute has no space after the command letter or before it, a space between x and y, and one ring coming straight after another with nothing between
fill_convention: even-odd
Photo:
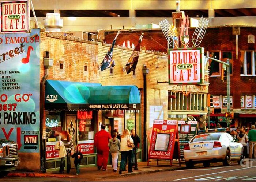
<instances>
[{"instance_id":1,"label":"person in grey-brown jacket and pale trousers beside man in red","mask_svg":"<svg viewBox=\"0 0 256 182\"><path fill-rule=\"evenodd\" d=\"M109 150L112 155L112 165L114 172L117 172L117 159L120 152L120 140L117 138L117 133L113 133L113 138L109 140Z\"/></svg>"}]
</instances>

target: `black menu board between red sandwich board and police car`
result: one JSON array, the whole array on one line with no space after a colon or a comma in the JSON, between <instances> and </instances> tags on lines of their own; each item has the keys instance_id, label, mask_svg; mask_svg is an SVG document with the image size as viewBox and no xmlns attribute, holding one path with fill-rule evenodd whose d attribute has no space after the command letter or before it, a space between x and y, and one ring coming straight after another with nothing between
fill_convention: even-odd
<instances>
[{"instance_id":1,"label":"black menu board between red sandwich board and police car","mask_svg":"<svg viewBox=\"0 0 256 182\"><path fill-rule=\"evenodd\" d=\"M196 135L197 132L197 121L178 121L178 133L180 141L180 155L183 158L183 148L191 138Z\"/></svg>"}]
</instances>

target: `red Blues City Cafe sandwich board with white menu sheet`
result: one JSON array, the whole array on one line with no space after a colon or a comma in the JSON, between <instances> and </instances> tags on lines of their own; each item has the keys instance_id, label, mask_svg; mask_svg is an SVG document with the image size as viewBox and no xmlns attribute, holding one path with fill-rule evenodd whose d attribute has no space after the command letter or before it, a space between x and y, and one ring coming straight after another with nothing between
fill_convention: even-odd
<instances>
[{"instance_id":1,"label":"red Blues City Cafe sandwich board with white menu sheet","mask_svg":"<svg viewBox=\"0 0 256 182\"><path fill-rule=\"evenodd\" d=\"M154 120L148 151L148 166L150 159L157 159L158 166L160 166L159 159L170 160L170 166L173 159L178 159L178 166L181 166L177 120Z\"/></svg>"}]
</instances>

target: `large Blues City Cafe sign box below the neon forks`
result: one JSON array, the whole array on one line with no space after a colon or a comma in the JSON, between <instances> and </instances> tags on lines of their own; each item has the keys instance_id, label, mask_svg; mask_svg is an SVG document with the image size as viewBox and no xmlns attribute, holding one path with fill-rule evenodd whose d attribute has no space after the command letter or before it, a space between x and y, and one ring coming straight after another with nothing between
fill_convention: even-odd
<instances>
[{"instance_id":1,"label":"large Blues City Cafe sign box below the neon forks","mask_svg":"<svg viewBox=\"0 0 256 182\"><path fill-rule=\"evenodd\" d=\"M169 49L169 84L202 84L203 48Z\"/></svg>"}]
</instances>

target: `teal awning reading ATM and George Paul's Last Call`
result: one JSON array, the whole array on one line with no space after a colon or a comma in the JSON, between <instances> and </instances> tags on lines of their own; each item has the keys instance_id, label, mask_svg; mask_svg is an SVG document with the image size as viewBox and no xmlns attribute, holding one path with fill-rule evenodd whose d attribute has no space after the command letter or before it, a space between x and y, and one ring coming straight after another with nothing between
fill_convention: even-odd
<instances>
[{"instance_id":1,"label":"teal awning reading ATM and George Paul's Last Call","mask_svg":"<svg viewBox=\"0 0 256 182\"><path fill-rule=\"evenodd\" d=\"M138 87L46 80L45 110L139 110Z\"/></svg>"}]
</instances>

